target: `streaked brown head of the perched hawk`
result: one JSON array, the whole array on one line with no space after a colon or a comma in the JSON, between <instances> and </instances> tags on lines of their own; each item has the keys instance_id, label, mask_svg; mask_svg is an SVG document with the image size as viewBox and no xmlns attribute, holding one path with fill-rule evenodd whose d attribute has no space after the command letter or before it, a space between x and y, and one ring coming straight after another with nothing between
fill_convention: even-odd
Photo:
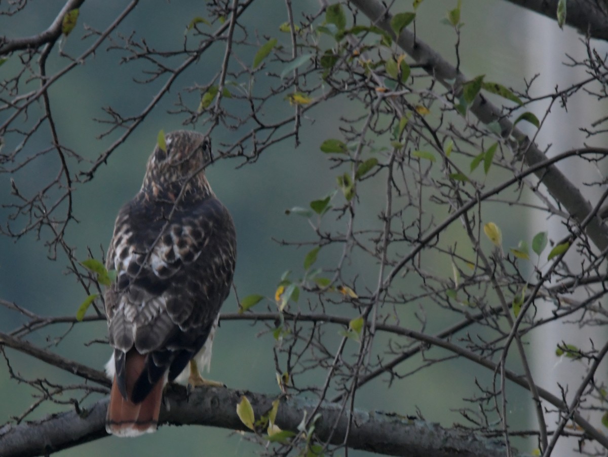
<instances>
[{"instance_id":1,"label":"streaked brown head of the perched hawk","mask_svg":"<svg viewBox=\"0 0 608 457\"><path fill-rule=\"evenodd\" d=\"M209 195L211 187L204 167L212 161L211 141L196 131L177 130L165 135L165 149L158 144L148 159L142 190L154 197L169 194Z\"/></svg>"}]
</instances>

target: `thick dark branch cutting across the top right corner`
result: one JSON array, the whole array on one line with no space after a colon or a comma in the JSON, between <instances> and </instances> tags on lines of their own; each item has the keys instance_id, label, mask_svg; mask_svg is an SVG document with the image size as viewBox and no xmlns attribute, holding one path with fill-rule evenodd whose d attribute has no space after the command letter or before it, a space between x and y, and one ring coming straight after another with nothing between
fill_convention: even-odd
<instances>
[{"instance_id":1,"label":"thick dark branch cutting across the top right corner","mask_svg":"<svg viewBox=\"0 0 608 457\"><path fill-rule=\"evenodd\" d=\"M525 9L557 18L559 0L506 0ZM608 40L608 4L603 0L568 0L566 24L583 35Z\"/></svg>"}]
</instances>

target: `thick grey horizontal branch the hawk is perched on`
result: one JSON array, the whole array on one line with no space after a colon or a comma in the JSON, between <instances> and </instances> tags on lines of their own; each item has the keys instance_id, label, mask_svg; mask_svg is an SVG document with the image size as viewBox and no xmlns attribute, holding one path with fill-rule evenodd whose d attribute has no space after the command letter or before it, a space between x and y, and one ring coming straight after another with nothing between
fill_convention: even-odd
<instances>
[{"instance_id":1,"label":"thick grey horizontal branch the hawk is perched on","mask_svg":"<svg viewBox=\"0 0 608 457\"><path fill-rule=\"evenodd\" d=\"M272 396L252 392L240 392L224 388L198 388L189 396L182 386L171 386L165 396L161 411L161 424L211 425L228 430L244 430L237 416L237 403L247 396L258 419L272 408ZM308 414L317 405L315 400L292 397L282 399L276 424L283 430L297 432L305 411ZM7 425L0 429L0 455L32 456L57 452L83 442L106 436L105 414L108 399L95 403L89 410L54 414L36 422ZM348 416L338 419L340 405L323 403L316 422L317 438L325 441L332 434L331 442L342 444L348 424ZM471 431L446 429L438 424L410 419L399 414L354 410L348 447L368 450L385 455L409 457L449 456L503 456L505 448L492 439L475 436Z\"/></svg>"}]
</instances>

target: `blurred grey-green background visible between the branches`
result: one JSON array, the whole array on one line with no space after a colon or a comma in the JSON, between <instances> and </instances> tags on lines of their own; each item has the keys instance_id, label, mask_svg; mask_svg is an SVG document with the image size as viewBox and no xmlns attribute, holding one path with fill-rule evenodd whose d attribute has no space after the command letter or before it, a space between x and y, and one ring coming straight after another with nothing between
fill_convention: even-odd
<instances>
[{"instance_id":1,"label":"blurred grey-green background visible between the branches","mask_svg":"<svg viewBox=\"0 0 608 457\"><path fill-rule=\"evenodd\" d=\"M32 35L45 29L55 18L64 1L45 0L31 2L24 10L13 17L0 17L0 30L8 37ZM250 27L251 37L257 30L260 37L277 37L281 44L289 46L289 37L278 32L280 24L287 20L282 2L258 0L243 16L243 22ZM418 10L416 33L418 37L434 47L440 54L454 62L454 30L441 23L447 9L455 1L426 1ZM80 41L83 26L104 29L123 9L125 2L120 1L86 1L80 9L77 28L69 36L64 49L71 55L78 55L91 43L91 39ZM412 2L396 2L394 12L411 10ZM299 0L297 9L308 13L316 12L319 3L313 0ZM181 0L174 2L141 2L133 13L119 27L119 32L129 35L136 30L137 38L145 37L151 47L174 49L184 41L184 30L195 16L205 16L204 2ZM523 9L519 9L502 0L466 0L463 2L463 22L461 36L461 69L465 74L486 74L486 80L497 81L506 86L523 89L523 77L530 77L533 71L526 69L522 58L525 52L531 51L534 41L526 21L534 16L537 21L550 21L540 18ZM300 16L295 17L296 23ZM571 39L576 35L567 30ZM100 168L94 180L86 185L78 185L74 193L74 214L79 223L71 223L67 240L77 246L78 259L86 259L87 247L100 257L100 246L105 249L112 234L114 218L120 206L139 190L145 162L156 142L157 132L182 128L183 118L169 115L167 110L174 108L174 95L182 86L199 83L204 85L215 75L221 65L224 49L214 46L206 52L201 60L184 72L175 83L175 90L165 96L161 104L145 119L136 132L125 144L114 152L107 165ZM112 106L120 113L137 114L150 101L150 97L159 89L159 82L151 85L137 85L133 77L141 77L140 71L145 68L140 62L119 65L123 52L105 51L102 47L93 59L69 72L55 83L51 90L51 102L54 109L60 138L80 155L95 159L115 136L110 139L97 140L95 136L104 130L104 126L94 122L94 117L103 117L102 106ZM250 62L253 55L239 55ZM178 60L175 61L176 63ZM54 49L49 58L48 72L60 69L66 61L58 56ZM0 68L0 78L6 78L16 71L18 61L9 61ZM536 69L540 71L541 69ZM260 76L258 76L260 78ZM263 81L258 81L264 84ZM195 92L192 100L198 98ZM196 101L195 101L196 103ZM269 104L266 113L272 117L277 111L285 110L281 105ZM191 103L192 104L192 103ZM229 105L228 105L229 106ZM330 111L331 106L331 111ZM343 99L335 99L331 105L323 105L311 114L316 122L305 120L300 140L302 144L295 148L293 139L275 145L263 153L254 164L237 167L240 162L223 160L213 164L207 171L209 181L216 195L229 208L237 226L238 262L235 285L239 296L260 293L269 297L274 291L281 274L289 269L301 268L305 249L282 247L275 240L309 240L314 238L306 219L286 215L285 210L293 206L307 206L308 202L327 194L335 187L334 170L328 167L327 158L319 151L320 142L325 138L336 136L339 117L347 114L352 105ZM238 113L235 113L238 115ZM349 113L352 114L352 113ZM0 119L4 122L4 119ZM26 122L26 121L24 121ZM217 131L214 144L230 142L240 135L227 131ZM241 132L242 134L242 132ZM7 136L7 147L12 138ZM28 147L32 150L50 145L49 132L44 129L36 134L35 141ZM81 169L88 166L74 165ZM35 192L40 181L46 181L57 173L57 162L53 156L32 162L19 173L15 180L24 195ZM378 183L379 184L379 183ZM370 185L365 188L365 203L370 205L368 216L374 222L376 213L381 209L383 189ZM0 203L12 203L10 196L9 176L0 177ZM375 206L376 205L376 206ZM0 209L0 220L5 221L9 212ZM502 228L508 244L516 244L521 232L521 220L514 220L508 214L496 214L496 223ZM516 226L519 226L516 230ZM512 236L510 233L514 233ZM43 234L47 237L47 234ZM512 239L510 239L510 236ZM327 266L335 263L331 251L323 251L319 262ZM353 271L360 271L364 285L373 286L375 265L352 265ZM443 268L437 265L438 270ZM47 259L43 242L36 240L33 234L23 237L18 242L0 237L0 298L42 315L74 315L85 292L73 276L66 276L66 259L59 256L56 261ZM414 283L404 282L404 287L416 287ZM236 312L237 304L233 295L227 299L224 312ZM435 320L437 318L437 320ZM432 319L438 329L447 320L441 316ZM15 312L0 307L0 330L9 332L23 323ZM221 326L216 335L213 348L213 362L210 378L222 380L231 388L249 389L250 391L278 394L275 380L272 347L275 344L272 335L257 335L262 326L251 326L248 323L230 321ZM54 346L54 338L63 335L66 327L54 327L36 332L28 338L32 343L50 347L66 357L81 363L102 369L109 357L109 348L102 344L83 346L83 341L104 338L104 322L86 323L75 326L66 338ZM378 344L378 343L376 343ZM356 347L351 347L355 352ZM12 368L24 377L46 377L57 383L79 382L64 372L51 366L43 365L26 355L17 354L7 349ZM434 351L435 356L446 355ZM412 361L410 368L419 363ZM323 376L322 373L319 373ZM447 408L457 408L462 397L470 397L475 392L472 380L488 381L491 374L480 370L466 361L449 362L424 369L415 377L407 377L387 389L387 379L382 378L361 389L357 396L356 406L370 410L395 411L400 414L415 414L420 408L424 417L433 422L440 422L449 427L454 422L461 422L459 414ZM322 382L319 377L317 383ZM307 379L315 382L314 379ZM512 395L527 392L511 388ZM519 390L518 390L519 389ZM519 392L519 393L518 393ZM11 416L18 416L32 403L32 389L18 385L9 379L7 366L0 363L0 423ZM525 427L527 411L518 410L513 403L511 413ZM68 406L46 404L35 417L42 413L61 411ZM240 434L227 430L216 430L210 427L161 427L153 435L139 439L105 438L80 447L58 453L61 456L134 456L165 455L179 452L182 455L205 456L248 456L258 452L259 448L250 445ZM364 456L364 452L352 452L349 455Z\"/></svg>"}]
</instances>

